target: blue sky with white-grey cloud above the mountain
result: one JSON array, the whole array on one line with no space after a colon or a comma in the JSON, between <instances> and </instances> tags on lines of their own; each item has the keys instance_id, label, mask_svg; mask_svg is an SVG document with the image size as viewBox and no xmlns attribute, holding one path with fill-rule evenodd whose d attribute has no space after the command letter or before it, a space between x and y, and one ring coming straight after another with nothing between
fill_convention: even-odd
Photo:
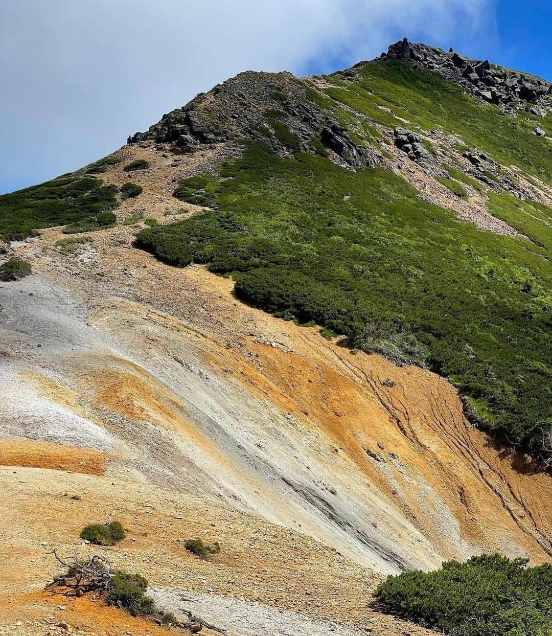
<instances>
[{"instance_id":1,"label":"blue sky with white-grey cloud above the mountain","mask_svg":"<svg viewBox=\"0 0 552 636\"><path fill-rule=\"evenodd\" d=\"M0 193L92 162L247 69L324 73L403 36L552 79L528 0L2 0Z\"/></svg>"}]
</instances>

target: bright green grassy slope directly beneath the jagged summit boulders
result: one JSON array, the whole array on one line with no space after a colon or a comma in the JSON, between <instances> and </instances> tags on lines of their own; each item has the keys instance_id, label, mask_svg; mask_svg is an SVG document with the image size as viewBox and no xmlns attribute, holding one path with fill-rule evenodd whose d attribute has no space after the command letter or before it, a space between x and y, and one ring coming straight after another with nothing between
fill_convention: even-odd
<instances>
[{"instance_id":1,"label":"bright green grassy slope directly beneath the jagged summit boulders","mask_svg":"<svg viewBox=\"0 0 552 636\"><path fill-rule=\"evenodd\" d=\"M442 127L500 163L518 165L552 183L551 147L548 140L532 133L534 122L529 114L504 114L438 73L397 60L371 62L358 73L358 81L322 91L387 126L397 125L397 114L424 130ZM330 79L339 77L337 73ZM378 106L388 107L392 113Z\"/></svg>"}]
</instances>

